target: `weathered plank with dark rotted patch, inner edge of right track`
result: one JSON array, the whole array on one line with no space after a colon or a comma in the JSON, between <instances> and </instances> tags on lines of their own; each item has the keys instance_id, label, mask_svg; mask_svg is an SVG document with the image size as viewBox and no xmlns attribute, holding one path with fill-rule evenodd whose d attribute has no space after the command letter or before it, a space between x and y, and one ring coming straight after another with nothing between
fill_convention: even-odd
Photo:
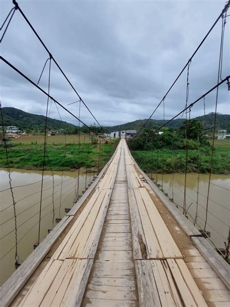
<instances>
[{"instance_id":1,"label":"weathered plank with dark rotted patch, inner edge of right track","mask_svg":"<svg viewBox=\"0 0 230 307\"><path fill-rule=\"evenodd\" d=\"M136 259L149 259L148 247L142 228L142 223L139 211L136 204L135 195L132 189L128 189L130 215L131 215L131 229L132 229L132 249L133 258Z\"/></svg>"}]
</instances>

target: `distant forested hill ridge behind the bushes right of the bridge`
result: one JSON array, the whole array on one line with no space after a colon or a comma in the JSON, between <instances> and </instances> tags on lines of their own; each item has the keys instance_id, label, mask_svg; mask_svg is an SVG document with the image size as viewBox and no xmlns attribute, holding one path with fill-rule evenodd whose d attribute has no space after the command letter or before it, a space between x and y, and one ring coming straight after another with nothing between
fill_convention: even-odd
<instances>
[{"instance_id":1,"label":"distant forested hill ridge behind the bushes right of the bridge","mask_svg":"<svg viewBox=\"0 0 230 307\"><path fill-rule=\"evenodd\" d=\"M198 116L197 119L202 122L206 131L211 131L214 126L214 113L210 113L203 116ZM147 119L137 119L135 121L127 122L122 125L107 126L105 127L108 131L121 131L121 130L139 130L141 126L146 122ZM165 119L165 122L168 119ZM179 128L184 119L173 119L166 126L170 128ZM146 125L147 128L158 128L164 124L163 119L150 119ZM225 129L230 132L230 115L229 114L217 114L216 115L216 130Z\"/></svg>"}]
</instances>

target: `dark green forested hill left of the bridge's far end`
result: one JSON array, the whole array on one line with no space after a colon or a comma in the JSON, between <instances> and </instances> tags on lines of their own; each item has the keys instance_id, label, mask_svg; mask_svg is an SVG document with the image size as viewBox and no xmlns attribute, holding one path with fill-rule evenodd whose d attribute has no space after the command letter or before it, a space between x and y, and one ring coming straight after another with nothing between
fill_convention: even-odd
<instances>
[{"instance_id":1,"label":"dark green forested hill left of the bridge's far end","mask_svg":"<svg viewBox=\"0 0 230 307\"><path fill-rule=\"evenodd\" d=\"M2 108L4 126L16 126L19 130L39 130L42 131L45 126L46 117L24 112L22 110L4 107ZM73 129L75 125L58 119L47 120L48 129Z\"/></svg>"}]
</instances>

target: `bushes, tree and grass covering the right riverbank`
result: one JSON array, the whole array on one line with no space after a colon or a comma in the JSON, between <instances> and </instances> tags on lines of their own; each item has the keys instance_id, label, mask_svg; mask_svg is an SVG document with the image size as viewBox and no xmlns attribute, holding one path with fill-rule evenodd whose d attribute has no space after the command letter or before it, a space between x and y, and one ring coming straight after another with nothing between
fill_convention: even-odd
<instances>
[{"instance_id":1,"label":"bushes, tree and grass covering the right riverbank","mask_svg":"<svg viewBox=\"0 0 230 307\"><path fill-rule=\"evenodd\" d=\"M188 172L210 172L212 140L202 132L202 125L194 121L187 129ZM186 165L186 138L184 125L176 132L155 134L145 129L139 136L129 140L129 148L140 168L145 172L184 172ZM230 173L230 140L214 140L212 173Z\"/></svg>"}]
</instances>

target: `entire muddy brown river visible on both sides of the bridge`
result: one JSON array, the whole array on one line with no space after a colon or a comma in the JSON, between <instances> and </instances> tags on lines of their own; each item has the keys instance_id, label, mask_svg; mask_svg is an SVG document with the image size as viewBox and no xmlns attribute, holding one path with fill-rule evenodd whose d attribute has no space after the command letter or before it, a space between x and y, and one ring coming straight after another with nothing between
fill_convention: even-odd
<instances>
[{"instance_id":1,"label":"entire muddy brown river visible on both sides of the bridge","mask_svg":"<svg viewBox=\"0 0 230 307\"><path fill-rule=\"evenodd\" d=\"M76 177L78 171L55 172L54 174L54 226L55 218L66 215L65 208L73 206L75 197ZM156 180L156 174L152 174ZM203 228L206 213L208 174L201 174L199 181L199 195L197 205L197 173L187 174L186 206L188 218L191 222L196 219L198 229ZM38 221L40 208L41 171L27 171L11 169L12 186L16 201L18 255L20 260L33 252L33 244L38 239ZM87 177L86 185L92 181ZM41 211L41 240L52 228L53 179L50 171L45 172ZM162 175L157 176L158 184L162 184ZM61 182L63 180L63 185ZM33 184L32 184L33 183ZM18 187L23 186L23 187ZM62 187L62 197L61 195ZM165 174L163 188L170 198L183 206L184 174ZM80 195L85 190L85 173L80 172ZM0 284L15 271L15 220L12 195L9 189L9 178L6 169L0 169ZM210 187L210 200L208 208L207 231L211 232L211 239L218 248L224 247L228 238L230 221L230 175L212 175Z\"/></svg>"}]
</instances>

